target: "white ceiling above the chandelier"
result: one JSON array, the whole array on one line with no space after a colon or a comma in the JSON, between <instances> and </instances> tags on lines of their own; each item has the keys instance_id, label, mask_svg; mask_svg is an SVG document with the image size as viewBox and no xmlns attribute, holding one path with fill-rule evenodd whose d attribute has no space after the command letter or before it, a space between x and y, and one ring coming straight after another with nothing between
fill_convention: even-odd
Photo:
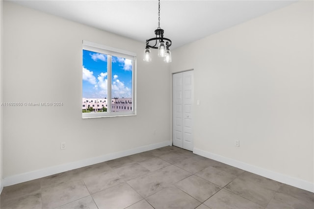
<instances>
[{"instance_id":1,"label":"white ceiling above the chandelier","mask_svg":"<svg viewBox=\"0 0 314 209\"><path fill-rule=\"evenodd\" d=\"M11 0L143 42L155 37L157 0ZM292 0L161 0L160 27L172 49L246 22Z\"/></svg>"}]
</instances>

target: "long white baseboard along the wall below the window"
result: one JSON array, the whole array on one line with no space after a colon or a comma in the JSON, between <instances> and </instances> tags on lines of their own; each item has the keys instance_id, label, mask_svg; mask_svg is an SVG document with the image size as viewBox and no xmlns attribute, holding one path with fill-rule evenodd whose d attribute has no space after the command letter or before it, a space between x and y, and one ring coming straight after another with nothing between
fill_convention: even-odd
<instances>
[{"instance_id":1,"label":"long white baseboard along the wall below the window","mask_svg":"<svg viewBox=\"0 0 314 209\"><path fill-rule=\"evenodd\" d=\"M125 150L125 151L121 151L117 153L109 153L109 154L99 156L99 157L92 157L88 159L79 160L76 162L70 162L70 163L56 165L49 168L43 168L36 171L30 171L27 173L9 176L3 179L3 182L2 182L3 184L1 186L9 186L9 185L17 184L17 183L23 183L30 180L50 176L53 174L81 168L84 166L93 165L100 162L105 162L107 160L116 159L119 157L125 157L125 156L129 156L129 155L133 155L133 154L137 154L137 153L141 153L141 152L145 152L149 150L154 150L160 147L169 146L171 144L172 142L170 141L163 141L157 144L146 145L146 146L137 147L137 148L133 148L130 150Z\"/></svg>"}]
</instances>

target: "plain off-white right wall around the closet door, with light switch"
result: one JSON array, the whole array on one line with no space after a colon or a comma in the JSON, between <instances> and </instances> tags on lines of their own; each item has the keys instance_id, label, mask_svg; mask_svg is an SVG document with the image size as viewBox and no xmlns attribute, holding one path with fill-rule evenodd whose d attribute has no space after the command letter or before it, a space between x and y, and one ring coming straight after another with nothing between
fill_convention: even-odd
<instances>
[{"instance_id":1,"label":"plain off-white right wall around the closet door, with light switch","mask_svg":"<svg viewBox=\"0 0 314 209\"><path fill-rule=\"evenodd\" d=\"M194 69L196 153L314 191L313 27L300 1L173 51L172 73Z\"/></svg>"}]
</instances>

